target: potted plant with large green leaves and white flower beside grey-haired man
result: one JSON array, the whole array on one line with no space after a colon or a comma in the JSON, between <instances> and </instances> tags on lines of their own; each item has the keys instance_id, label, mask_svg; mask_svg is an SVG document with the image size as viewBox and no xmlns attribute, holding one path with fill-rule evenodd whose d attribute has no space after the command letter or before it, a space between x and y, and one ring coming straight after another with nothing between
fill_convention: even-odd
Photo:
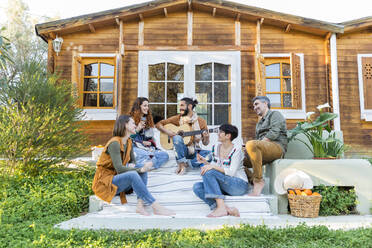
<instances>
[{"instance_id":1,"label":"potted plant with large green leaves and white flower beside grey-haired man","mask_svg":"<svg viewBox=\"0 0 372 248\"><path fill-rule=\"evenodd\" d=\"M306 120L298 122L297 126L289 131L289 141L298 140L304 143L313 153L314 158L339 158L345 151L345 145L342 140L336 138L336 133L329 126L329 121L338 115L324 111L325 108L330 108L328 103L317 107L319 116L315 120L311 119L314 112L306 113ZM296 138L301 133L306 136L311 145Z\"/></svg>"}]
</instances>

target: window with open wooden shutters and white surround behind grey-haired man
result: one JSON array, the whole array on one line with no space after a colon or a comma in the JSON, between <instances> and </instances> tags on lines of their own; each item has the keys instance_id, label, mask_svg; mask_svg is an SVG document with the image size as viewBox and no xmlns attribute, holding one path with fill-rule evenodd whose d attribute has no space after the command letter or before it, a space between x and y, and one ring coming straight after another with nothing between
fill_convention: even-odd
<instances>
[{"instance_id":1,"label":"window with open wooden shutters and white surround behind grey-haired man","mask_svg":"<svg viewBox=\"0 0 372 248\"><path fill-rule=\"evenodd\" d=\"M287 119L304 119L305 80L302 54L262 54L256 61L256 95Z\"/></svg>"}]
</instances>

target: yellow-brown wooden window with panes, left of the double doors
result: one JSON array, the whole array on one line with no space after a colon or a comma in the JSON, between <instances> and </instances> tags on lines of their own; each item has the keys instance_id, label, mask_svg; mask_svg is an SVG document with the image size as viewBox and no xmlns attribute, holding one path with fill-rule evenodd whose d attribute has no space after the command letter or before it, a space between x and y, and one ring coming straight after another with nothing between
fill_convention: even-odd
<instances>
[{"instance_id":1,"label":"yellow-brown wooden window with panes, left of the double doors","mask_svg":"<svg viewBox=\"0 0 372 248\"><path fill-rule=\"evenodd\" d=\"M80 106L84 109L115 108L115 61L111 58L83 58Z\"/></svg>"}]
</instances>

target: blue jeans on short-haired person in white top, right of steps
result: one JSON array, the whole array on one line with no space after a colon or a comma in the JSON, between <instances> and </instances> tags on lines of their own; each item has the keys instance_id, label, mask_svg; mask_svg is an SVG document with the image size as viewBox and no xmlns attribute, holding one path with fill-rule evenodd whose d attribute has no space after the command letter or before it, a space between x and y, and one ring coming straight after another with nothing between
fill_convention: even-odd
<instances>
[{"instance_id":1,"label":"blue jeans on short-haired person in white top, right of steps","mask_svg":"<svg viewBox=\"0 0 372 248\"><path fill-rule=\"evenodd\" d=\"M243 179L226 176L213 169L207 171L202 178L203 182L194 184L193 191L209 205L211 210L217 207L215 199L225 199L225 195L244 195L251 188L250 184Z\"/></svg>"}]
</instances>

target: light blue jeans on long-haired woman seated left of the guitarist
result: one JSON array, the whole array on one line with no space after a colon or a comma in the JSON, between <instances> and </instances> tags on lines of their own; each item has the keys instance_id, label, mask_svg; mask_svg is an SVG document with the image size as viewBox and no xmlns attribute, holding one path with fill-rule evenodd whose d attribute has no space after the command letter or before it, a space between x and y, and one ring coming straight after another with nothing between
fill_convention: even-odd
<instances>
[{"instance_id":1,"label":"light blue jeans on long-haired woman seated left of the guitarist","mask_svg":"<svg viewBox=\"0 0 372 248\"><path fill-rule=\"evenodd\" d=\"M133 147L133 151L136 154L136 167L138 166L139 168L147 161L151 160L153 167L158 169L169 160L168 153L162 150L151 152L138 147Z\"/></svg>"}]
</instances>

